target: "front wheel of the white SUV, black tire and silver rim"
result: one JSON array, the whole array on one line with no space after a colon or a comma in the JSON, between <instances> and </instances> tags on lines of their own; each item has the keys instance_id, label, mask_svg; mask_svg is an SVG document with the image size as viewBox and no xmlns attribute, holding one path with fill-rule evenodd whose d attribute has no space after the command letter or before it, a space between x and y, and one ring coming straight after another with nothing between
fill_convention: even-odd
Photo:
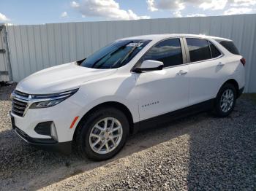
<instances>
[{"instance_id":1,"label":"front wheel of the white SUV, black tire and silver rim","mask_svg":"<svg viewBox=\"0 0 256 191\"><path fill-rule=\"evenodd\" d=\"M107 124L107 128L103 130L105 124ZM111 126L113 127L112 130L115 131L111 131ZM82 120L77 128L75 141L78 153L82 157L97 161L108 160L120 152L129 135L127 117L123 112L113 107L97 109L97 111L89 114L85 120ZM104 135L102 135L103 133ZM96 145L93 147L94 144ZM102 147L102 144L105 145Z\"/></svg>"}]
</instances>

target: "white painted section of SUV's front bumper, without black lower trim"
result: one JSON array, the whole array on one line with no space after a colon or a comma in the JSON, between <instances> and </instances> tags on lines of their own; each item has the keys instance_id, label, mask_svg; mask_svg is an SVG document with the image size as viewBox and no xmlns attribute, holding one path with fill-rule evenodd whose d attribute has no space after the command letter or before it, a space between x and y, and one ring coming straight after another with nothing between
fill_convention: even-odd
<instances>
[{"instance_id":1,"label":"white painted section of SUV's front bumper, without black lower trim","mask_svg":"<svg viewBox=\"0 0 256 191\"><path fill-rule=\"evenodd\" d=\"M77 120L74 128L70 128L75 117L80 116L82 107L76 102L79 94L72 95L70 98L62 101L56 106L42 109L27 109L23 117L11 112L10 115L15 119L15 127L25 132L29 137L34 139L51 139L51 136L39 133L35 128L42 122L53 122L57 141L59 143L72 141L75 127L78 125Z\"/></svg>"}]
</instances>

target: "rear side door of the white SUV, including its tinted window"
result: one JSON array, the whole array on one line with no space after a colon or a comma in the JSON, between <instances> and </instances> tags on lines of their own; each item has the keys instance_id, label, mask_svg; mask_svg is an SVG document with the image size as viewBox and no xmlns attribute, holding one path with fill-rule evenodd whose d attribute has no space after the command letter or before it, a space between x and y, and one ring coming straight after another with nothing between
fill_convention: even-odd
<instances>
[{"instance_id":1,"label":"rear side door of the white SUV, including its tinted window","mask_svg":"<svg viewBox=\"0 0 256 191\"><path fill-rule=\"evenodd\" d=\"M206 39L186 38L189 63L189 105L214 98L225 79L222 53Z\"/></svg>"}]
</instances>

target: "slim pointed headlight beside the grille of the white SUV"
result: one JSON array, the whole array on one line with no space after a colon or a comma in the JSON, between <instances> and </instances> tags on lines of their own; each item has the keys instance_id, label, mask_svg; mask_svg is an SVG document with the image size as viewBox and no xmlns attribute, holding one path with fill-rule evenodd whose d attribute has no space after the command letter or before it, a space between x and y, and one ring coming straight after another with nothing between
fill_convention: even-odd
<instances>
[{"instance_id":1,"label":"slim pointed headlight beside the grille of the white SUV","mask_svg":"<svg viewBox=\"0 0 256 191\"><path fill-rule=\"evenodd\" d=\"M63 93L53 93L53 94L44 94L44 95L31 95L32 102L30 109L37 109L37 108L45 108L50 106L55 106L61 101L69 98L71 95L76 93L78 89L69 90Z\"/></svg>"}]
</instances>

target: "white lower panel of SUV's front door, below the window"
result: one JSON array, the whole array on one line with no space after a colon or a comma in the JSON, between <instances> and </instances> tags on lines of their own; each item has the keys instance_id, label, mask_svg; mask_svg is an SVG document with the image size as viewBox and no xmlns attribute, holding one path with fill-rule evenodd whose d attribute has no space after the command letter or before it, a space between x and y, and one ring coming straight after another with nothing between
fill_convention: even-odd
<instances>
[{"instance_id":1,"label":"white lower panel of SUV's front door, below the window","mask_svg":"<svg viewBox=\"0 0 256 191\"><path fill-rule=\"evenodd\" d=\"M181 70L188 72L189 69L186 65L136 74L140 120L189 105L189 79L186 75L178 75Z\"/></svg>"}]
</instances>

